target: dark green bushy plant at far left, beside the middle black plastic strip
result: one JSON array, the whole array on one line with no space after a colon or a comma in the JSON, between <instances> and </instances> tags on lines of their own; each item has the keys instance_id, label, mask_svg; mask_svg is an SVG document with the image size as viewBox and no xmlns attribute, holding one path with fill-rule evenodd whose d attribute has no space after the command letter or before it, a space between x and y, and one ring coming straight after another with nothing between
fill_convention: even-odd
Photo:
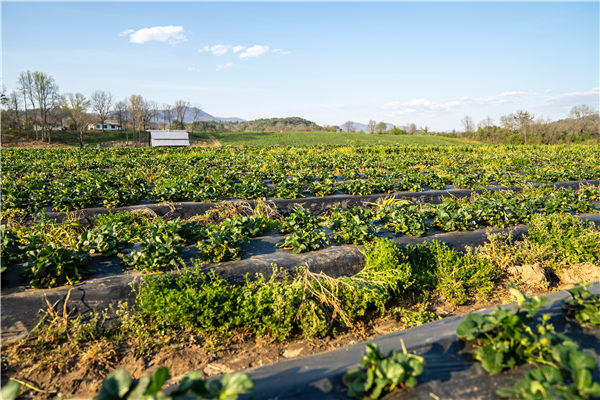
<instances>
[{"instance_id":1,"label":"dark green bushy plant at far left, beside the middle black plastic strip","mask_svg":"<svg viewBox=\"0 0 600 400\"><path fill-rule=\"evenodd\" d=\"M87 266L86 253L53 243L27 252L21 277L33 288L51 288L75 284L93 270Z\"/></svg>"}]
</instances>

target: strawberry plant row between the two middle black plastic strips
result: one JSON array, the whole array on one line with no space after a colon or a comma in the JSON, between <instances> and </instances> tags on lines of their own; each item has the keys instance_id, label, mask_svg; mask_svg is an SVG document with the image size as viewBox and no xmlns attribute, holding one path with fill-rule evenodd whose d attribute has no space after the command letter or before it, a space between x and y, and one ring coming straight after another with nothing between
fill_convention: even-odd
<instances>
[{"instance_id":1,"label":"strawberry plant row between the two middle black plastic strips","mask_svg":"<svg viewBox=\"0 0 600 400\"><path fill-rule=\"evenodd\" d=\"M91 274L86 263L91 254L119 255L125 267L140 271L167 271L185 265L185 246L196 244L199 264L238 260L249 238L274 229L287 234L279 247L301 253L328 244L364 244L384 230L424 236L434 229L505 228L529 222L537 214L595 211L593 201L598 199L600 187L582 186L577 191L485 192L471 199L444 199L438 205L389 198L372 207L334 208L326 216L296 208L280 217L272 209L259 208L253 215L225 215L217 221L207 215L165 221L134 212L100 215L89 229L75 221L43 220L34 226L3 225L2 260L24 263L21 276L32 287L54 287ZM135 250L126 251L134 244Z\"/></svg>"}]
</instances>

